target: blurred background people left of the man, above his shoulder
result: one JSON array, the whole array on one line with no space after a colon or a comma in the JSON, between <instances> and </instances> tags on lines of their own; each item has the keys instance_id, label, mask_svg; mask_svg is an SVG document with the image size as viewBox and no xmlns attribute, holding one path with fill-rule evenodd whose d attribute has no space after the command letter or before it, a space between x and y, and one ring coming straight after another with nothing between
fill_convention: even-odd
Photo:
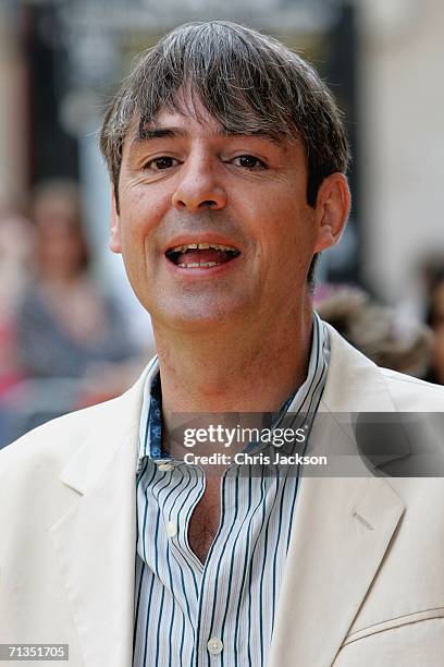
<instances>
[{"instance_id":1,"label":"blurred background people left of the man, above his shoulder","mask_svg":"<svg viewBox=\"0 0 444 667\"><path fill-rule=\"evenodd\" d=\"M133 340L90 259L75 183L42 183L26 215L0 194L0 447L120 395L152 351Z\"/></svg>"}]
</instances>

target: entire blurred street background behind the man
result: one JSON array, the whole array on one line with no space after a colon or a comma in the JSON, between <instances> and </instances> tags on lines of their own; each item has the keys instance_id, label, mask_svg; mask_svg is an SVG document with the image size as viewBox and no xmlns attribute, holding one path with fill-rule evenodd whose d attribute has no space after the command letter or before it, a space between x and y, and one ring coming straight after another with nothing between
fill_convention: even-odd
<instances>
[{"instance_id":1,"label":"entire blurred street background behind the man","mask_svg":"<svg viewBox=\"0 0 444 667\"><path fill-rule=\"evenodd\" d=\"M119 395L153 352L108 250L97 132L133 57L209 19L274 35L330 84L354 207L318 310L377 363L444 384L441 0L1 0L0 447Z\"/></svg>"}]
</instances>

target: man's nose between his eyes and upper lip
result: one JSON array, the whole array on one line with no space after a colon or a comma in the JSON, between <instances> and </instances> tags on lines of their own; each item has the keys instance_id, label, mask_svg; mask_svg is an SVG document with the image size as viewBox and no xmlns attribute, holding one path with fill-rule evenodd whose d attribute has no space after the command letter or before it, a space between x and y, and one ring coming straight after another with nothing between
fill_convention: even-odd
<instances>
[{"instance_id":1,"label":"man's nose between his eyes and upper lip","mask_svg":"<svg viewBox=\"0 0 444 667\"><path fill-rule=\"evenodd\" d=\"M202 208L218 210L226 204L224 187L218 182L209 159L189 158L181 169L181 180L172 197L173 207L196 213Z\"/></svg>"}]
</instances>

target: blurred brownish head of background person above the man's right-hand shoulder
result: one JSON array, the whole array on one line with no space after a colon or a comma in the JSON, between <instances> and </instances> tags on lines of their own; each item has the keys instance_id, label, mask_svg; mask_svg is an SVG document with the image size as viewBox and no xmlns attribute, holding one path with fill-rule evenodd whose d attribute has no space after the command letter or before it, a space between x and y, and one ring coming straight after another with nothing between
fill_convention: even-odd
<instances>
[{"instance_id":1,"label":"blurred brownish head of background person above the man's right-hand shoulder","mask_svg":"<svg viewBox=\"0 0 444 667\"><path fill-rule=\"evenodd\" d=\"M316 303L322 319L375 364L424 378L432 335L420 322L380 305L355 287L331 286Z\"/></svg>"}]
</instances>

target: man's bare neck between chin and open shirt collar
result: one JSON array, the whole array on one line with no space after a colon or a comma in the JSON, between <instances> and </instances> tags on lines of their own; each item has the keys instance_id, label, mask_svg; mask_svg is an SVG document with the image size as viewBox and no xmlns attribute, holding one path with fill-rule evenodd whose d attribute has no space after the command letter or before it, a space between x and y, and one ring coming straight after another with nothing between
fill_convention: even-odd
<instances>
[{"instance_id":1,"label":"man's bare neck between chin and open shirt collar","mask_svg":"<svg viewBox=\"0 0 444 667\"><path fill-rule=\"evenodd\" d=\"M166 423L174 412L273 412L307 376L311 300L262 326L184 333L153 320L153 330Z\"/></svg>"}]
</instances>

